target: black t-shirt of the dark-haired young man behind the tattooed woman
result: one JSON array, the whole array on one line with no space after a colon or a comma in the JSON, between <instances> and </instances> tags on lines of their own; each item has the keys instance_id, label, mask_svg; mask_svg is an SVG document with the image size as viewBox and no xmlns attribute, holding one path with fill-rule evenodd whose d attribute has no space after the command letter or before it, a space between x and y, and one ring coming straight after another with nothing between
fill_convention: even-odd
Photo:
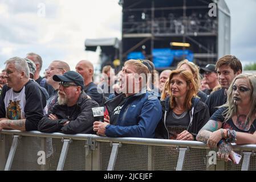
<instances>
[{"instance_id":1,"label":"black t-shirt of the dark-haired young man behind the tattooed woman","mask_svg":"<svg viewBox=\"0 0 256 182\"><path fill-rule=\"evenodd\" d=\"M208 106L210 116L213 115L215 111L218 110L218 106L222 106L226 103L227 96L225 94L225 89L216 90L205 101Z\"/></svg>"}]
</instances>

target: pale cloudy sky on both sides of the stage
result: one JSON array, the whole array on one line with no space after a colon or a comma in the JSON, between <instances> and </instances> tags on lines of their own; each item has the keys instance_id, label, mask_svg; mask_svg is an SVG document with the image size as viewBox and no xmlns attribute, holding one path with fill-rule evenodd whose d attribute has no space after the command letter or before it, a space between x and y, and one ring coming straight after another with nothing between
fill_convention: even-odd
<instances>
[{"instance_id":1,"label":"pale cloudy sky on both sides of the stage","mask_svg":"<svg viewBox=\"0 0 256 182\"><path fill-rule=\"evenodd\" d=\"M256 62L256 0L226 0L231 14L231 54L243 64ZM0 68L10 57L28 52L64 60L71 69L82 59L98 61L84 51L84 41L121 38L118 0L0 0Z\"/></svg>"}]
</instances>

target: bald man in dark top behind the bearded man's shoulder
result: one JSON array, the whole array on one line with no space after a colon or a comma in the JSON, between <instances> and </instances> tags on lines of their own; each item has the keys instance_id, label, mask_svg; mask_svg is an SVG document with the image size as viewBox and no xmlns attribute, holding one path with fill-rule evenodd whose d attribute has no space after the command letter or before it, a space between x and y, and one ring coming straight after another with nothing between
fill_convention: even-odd
<instances>
[{"instance_id":1,"label":"bald man in dark top behind the bearded man's shoulder","mask_svg":"<svg viewBox=\"0 0 256 182\"><path fill-rule=\"evenodd\" d=\"M94 65L92 65L90 61L81 60L76 64L76 72L80 73L84 78L84 92L86 92L86 94L90 96L92 100L95 100L100 106L103 106L103 91L101 88L97 88L97 85L92 82L92 77L94 76Z\"/></svg>"}]
</instances>

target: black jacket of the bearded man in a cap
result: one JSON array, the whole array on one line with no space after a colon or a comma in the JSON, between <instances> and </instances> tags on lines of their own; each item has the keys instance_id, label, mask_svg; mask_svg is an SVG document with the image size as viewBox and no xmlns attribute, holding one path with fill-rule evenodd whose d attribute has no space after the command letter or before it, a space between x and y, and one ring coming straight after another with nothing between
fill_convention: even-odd
<instances>
[{"instance_id":1,"label":"black jacket of the bearded man in a cap","mask_svg":"<svg viewBox=\"0 0 256 182\"><path fill-rule=\"evenodd\" d=\"M46 133L62 132L66 134L87 133L94 134L92 125L94 123L94 115L92 107L97 107L99 104L87 97L86 93L82 92L75 105L75 109L67 119L67 105L59 105L58 102L52 110L44 115L38 124L38 130ZM55 114L59 119L49 119L49 114ZM67 125L63 123L70 121Z\"/></svg>"}]
</instances>

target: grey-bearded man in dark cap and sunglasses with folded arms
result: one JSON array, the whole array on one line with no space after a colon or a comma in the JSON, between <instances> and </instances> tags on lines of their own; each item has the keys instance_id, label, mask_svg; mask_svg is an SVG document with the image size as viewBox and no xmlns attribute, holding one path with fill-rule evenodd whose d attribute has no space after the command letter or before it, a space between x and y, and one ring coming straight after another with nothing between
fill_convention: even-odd
<instances>
[{"instance_id":1,"label":"grey-bearded man in dark cap and sunglasses with folded arms","mask_svg":"<svg viewBox=\"0 0 256 182\"><path fill-rule=\"evenodd\" d=\"M40 120L38 130L46 133L94 133L92 107L99 105L83 91L83 77L77 72L68 71L52 78L59 82L58 102Z\"/></svg>"}]
</instances>

